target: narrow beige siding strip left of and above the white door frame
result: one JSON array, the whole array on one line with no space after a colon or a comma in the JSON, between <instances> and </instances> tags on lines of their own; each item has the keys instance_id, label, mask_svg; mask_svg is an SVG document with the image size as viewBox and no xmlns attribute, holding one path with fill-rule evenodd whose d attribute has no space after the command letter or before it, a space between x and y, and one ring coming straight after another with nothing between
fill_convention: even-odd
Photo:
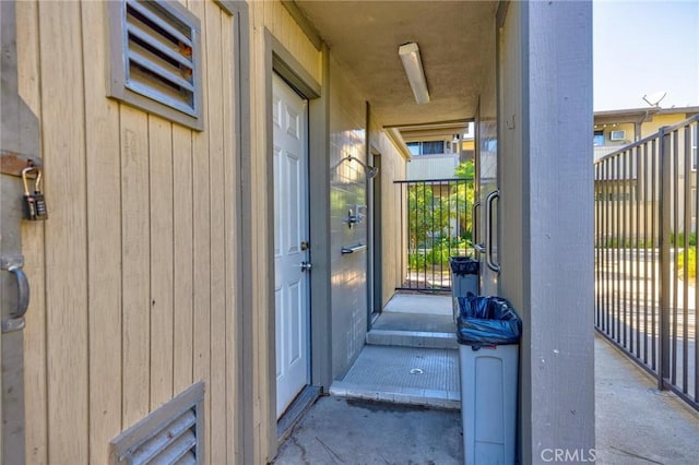
<instances>
[{"instance_id":1,"label":"narrow beige siding strip left of and above the white door frame","mask_svg":"<svg viewBox=\"0 0 699 465\"><path fill-rule=\"evenodd\" d=\"M251 115L251 184L253 186L251 199L252 218L249 227L251 230L251 253L253 270L251 276L247 276L252 286L252 344L253 359L253 398L248 400L252 405L252 433L253 451L247 452L252 463L265 463L273 458L276 444L275 402L271 398L270 385L275 379L270 374L274 372L270 367L271 350L274 346L274 334L270 334L270 320L274 315L274 302L270 299L271 278L268 267L270 259L270 245L266 231L270 230L270 216L268 211L268 153L266 142L271 138L268 132L266 116L268 102L266 83L271 80L266 75L265 59L265 33L272 34L304 67L304 69L318 82L321 79L321 52L318 51L304 35L296 22L286 9L277 1L251 1L250 8L250 107ZM271 128L269 128L271 130ZM247 458L246 458L247 460Z\"/></svg>"}]
</instances>

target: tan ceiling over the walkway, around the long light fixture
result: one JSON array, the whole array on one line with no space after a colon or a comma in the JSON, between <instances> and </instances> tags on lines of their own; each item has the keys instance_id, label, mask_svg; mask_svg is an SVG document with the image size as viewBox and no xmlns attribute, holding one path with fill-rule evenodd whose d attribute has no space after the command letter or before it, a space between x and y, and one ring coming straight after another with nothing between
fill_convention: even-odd
<instances>
[{"instance_id":1,"label":"tan ceiling over the walkway, around the long light fixture","mask_svg":"<svg viewBox=\"0 0 699 465\"><path fill-rule=\"evenodd\" d=\"M384 127L472 119L496 1L305 1L296 5L350 70ZM430 102L417 105L398 49L419 46Z\"/></svg>"}]
</instances>

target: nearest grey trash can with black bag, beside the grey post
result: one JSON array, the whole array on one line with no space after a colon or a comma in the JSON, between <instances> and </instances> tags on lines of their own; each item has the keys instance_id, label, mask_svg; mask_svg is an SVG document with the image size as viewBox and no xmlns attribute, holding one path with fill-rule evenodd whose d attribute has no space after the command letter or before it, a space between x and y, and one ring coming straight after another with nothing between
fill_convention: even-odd
<instances>
[{"instance_id":1,"label":"nearest grey trash can with black bag, beside the grey post","mask_svg":"<svg viewBox=\"0 0 699 465\"><path fill-rule=\"evenodd\" d=\"M503 298L458 301L464 464L514 464L522 321Z\"/></svg>"}]
</instances>

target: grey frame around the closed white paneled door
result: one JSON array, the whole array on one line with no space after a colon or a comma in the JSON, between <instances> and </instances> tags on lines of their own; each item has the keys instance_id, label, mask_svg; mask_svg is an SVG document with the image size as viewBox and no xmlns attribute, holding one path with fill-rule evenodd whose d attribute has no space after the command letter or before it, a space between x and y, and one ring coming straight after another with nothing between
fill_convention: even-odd
<instances>
[{"instance_id":1,"label":"grey frame around the closed white paneled door","mask_svg":"<svg viewBox=\"0 0 699 465\"><path fill-rule=\"evenodd\" d=\"M332 381L331 358L329 350L313 350L313 347L331 346L331 282L330 282L330 170L327 154L329 153L329 98L328 84L328 48L323 45L323 85L308 73L300 62L265 28L264 31L264 76L265 76L265 108L256 108L256 111L265 112L265 154L273 152L272 132L272 75L279 74L287 84L308 100L308 176L313 182L308 183L309 195L309 228L310 228L310 262L313 269L310 273L310 384L324 388ZM266 220L265 224L274 225L274 171L271 163L265 163L264 178L268 186ZM265 234L265 247L268 249L266 267L270 273L266 282L261 283L268 296L274 295L274 238L272 228L268 227ZM268 379L266 398L270 406L276 405L276 351L273 335L276 332L273 300L269 300L266 311L269 337L266 350ZM251 347L252 348L252 347ZM252 354L249 354L252 358ZM262 388L264 389L264 388ZM270 426L276 425L276 408L269 408L268 421Z\"/></svg>"}]
</instances>

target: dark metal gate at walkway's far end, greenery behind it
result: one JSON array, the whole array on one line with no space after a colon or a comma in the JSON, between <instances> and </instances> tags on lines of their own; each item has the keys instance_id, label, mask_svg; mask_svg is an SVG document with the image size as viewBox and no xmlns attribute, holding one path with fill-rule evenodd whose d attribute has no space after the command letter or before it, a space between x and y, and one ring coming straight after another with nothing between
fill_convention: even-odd
<instances>
[{"instance_id":1,"label":"dark metal gate at walkway's far end, greenery behind it","mask_svg":"<svg viewBox=\"0 0 699 465\"><path fill-rule=\"evenodd\" d=\"M449 290L449 257L472 253L473 179L394 181L401 189L407 275L398 290Z\"/></svg>"}]
</instances>

